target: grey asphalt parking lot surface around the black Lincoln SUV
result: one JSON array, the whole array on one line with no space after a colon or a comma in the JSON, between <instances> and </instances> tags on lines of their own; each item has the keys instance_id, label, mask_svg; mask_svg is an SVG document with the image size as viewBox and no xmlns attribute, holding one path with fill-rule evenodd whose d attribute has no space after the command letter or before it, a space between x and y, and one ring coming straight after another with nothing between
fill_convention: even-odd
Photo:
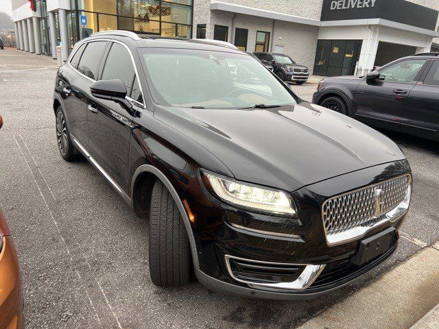
<instances>
[{"instance_id":1,"label":"grey asphalt parking lot surface around the black Lincoln SUV","mask_svg":"<svg viewBox=\"0 0 439 329\"><path fill-rule=\"evenodd\" d=\"M58 154L55 64L0 51L0 208L19 253L27 328L295 328L439 240L439 144L384 132L410 160L414 196L399 249L383 265L331 295L299 302L230 297L198 282L155 287L147 221L91 164ZM310 100L316 84L292 88Z\"/></svg>"}]
</instances>

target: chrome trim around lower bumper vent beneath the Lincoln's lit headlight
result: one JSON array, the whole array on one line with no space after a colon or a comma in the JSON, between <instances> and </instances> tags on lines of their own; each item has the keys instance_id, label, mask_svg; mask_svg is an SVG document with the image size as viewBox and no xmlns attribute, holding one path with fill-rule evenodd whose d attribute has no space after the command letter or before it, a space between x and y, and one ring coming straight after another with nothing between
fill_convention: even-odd
<instances>
[{"instance_id":1,"label":"chrome trim around lower bumper vent beneath the Lincoln's lit headlight","mask_svg":"<svg viewBox=\"0 0 439 329\"><path fill-rule=\"evenodd\" d=\"M304 265L304 264L290 264L290 263L273 263L273 262L264 262L262 260L252 260L246 258L240 258L236 256L224 255L226 260L226 267L228 274L236 280L237 282L245 283L254 287L263 287L263 288L271 288L271 289L283 289L287 291L303 291L311 286L314 281L320 276L326 264L322 265ZM292 266L305 266L305 269L300 273L300 276L292 281L292 282L278 282L278 283L261 283L261 282L252 282L249 280L241 280L238 279L232 271L232 267L230 266L230 259L236 260L244 260L249 263L259 263L259 264L268 264L268 265L292 265Z\"/></svg>"}]
</instances>

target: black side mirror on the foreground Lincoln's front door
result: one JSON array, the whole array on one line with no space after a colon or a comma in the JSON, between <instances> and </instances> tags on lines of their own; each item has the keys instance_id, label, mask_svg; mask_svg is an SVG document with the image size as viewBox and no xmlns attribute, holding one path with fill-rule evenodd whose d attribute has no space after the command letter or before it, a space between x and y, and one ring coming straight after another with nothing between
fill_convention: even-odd
<instances>
[{"instance_id":1,"label":"black side mirror on the foreground Lincoln's front door","mask_svg":"<svg viewBox=\"0 0 439 329\"><path fill-rule=\"evenodd\" d=\"M99 80L90 86L91 95L100 99L110 99L121 103L127 110L132 108L126 97L126 86L121 80Z\"/></svg>"}]
</instances>

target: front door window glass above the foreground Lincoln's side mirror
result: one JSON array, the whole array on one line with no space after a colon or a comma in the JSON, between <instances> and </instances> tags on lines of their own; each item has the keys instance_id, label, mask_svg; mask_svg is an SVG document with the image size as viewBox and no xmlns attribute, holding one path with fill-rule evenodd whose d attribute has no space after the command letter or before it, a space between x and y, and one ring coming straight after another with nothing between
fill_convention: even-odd
<instances>
[{"instance_id":1,"label":"front door window glass above the foreground Lincoln's side mirror","mask_svg":"<svg viewBox=\"0 0 439 329\"><path fill-rule=\"evenodd\" d=\"M119 79L125 84L127 95L131 94L134 66L126 47L114 42L105 62L102 80Z\"/></svg>"}]
</instances>

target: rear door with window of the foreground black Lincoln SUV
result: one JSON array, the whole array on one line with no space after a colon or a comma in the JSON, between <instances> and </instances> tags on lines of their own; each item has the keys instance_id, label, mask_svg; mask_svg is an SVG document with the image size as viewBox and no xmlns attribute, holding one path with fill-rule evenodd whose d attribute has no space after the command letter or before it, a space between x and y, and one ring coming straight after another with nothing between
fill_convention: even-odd
<instances>
[{"instance_id":1,"label":"rear door with window of the foreground black Lincoln SUV","mask_svg":"<svg viewBox=\"0 0 439 329\"><path fill-rule=\"evenodd\" d=\"M102 55L108 42L93 41L84 45L84 51L75 70L69 74L68 119L70 132L82 146L88 148L88 111L90 86L97 80ZM75 58L72 58L72 60ZM75 64L75 63L71 63Z\"/></svg>"}]
</instances>

